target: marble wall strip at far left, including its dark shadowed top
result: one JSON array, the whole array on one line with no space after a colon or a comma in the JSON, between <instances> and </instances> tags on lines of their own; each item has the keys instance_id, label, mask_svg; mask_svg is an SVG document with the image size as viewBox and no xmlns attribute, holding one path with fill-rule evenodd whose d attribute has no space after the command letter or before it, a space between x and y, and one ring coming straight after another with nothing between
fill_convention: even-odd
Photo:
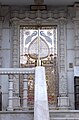
<instances>
[{"instance_id":1,"label":"marble wall strip at far left, including its dark shadowed top","mask_svg":"<svg viewBox=\"0 0 79 120\"><path fill-rule=\"evenodd\" d=\"M9 25L9 10L8 7L2 7L2 67L11 67L11 29ZM5 17L4 17L5 16ZM2 91L2 109L6 110L8 105L8 76L1 76L1 91Z\"/></svg>"}]
</instances>

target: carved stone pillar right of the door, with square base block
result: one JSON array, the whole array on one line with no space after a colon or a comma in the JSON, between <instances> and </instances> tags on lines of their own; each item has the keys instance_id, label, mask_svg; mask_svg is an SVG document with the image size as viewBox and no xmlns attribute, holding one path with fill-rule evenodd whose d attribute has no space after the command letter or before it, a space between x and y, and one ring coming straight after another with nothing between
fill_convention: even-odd
<instances>
[{"instance_id":1,"label":"carved stone pillar right of the door, with square base block","mask_svg":"<svg viewBox=\"0 0 79 120\"><path fill-rule=\"evenodd\" d=\"M59 19L59 109L68 109L69 98L67 94L67 69L66 69L66 19Z\"/></svg>"}]
</instances>

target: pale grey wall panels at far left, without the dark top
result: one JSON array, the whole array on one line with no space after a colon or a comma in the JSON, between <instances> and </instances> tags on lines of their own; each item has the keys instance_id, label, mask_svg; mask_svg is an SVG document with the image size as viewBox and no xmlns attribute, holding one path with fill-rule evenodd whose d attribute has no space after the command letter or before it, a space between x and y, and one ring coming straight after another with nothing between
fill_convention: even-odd
<instances>
[{"instance_id":1,"label":"pale grey wall panels at far left, without the dark top","mask_svg":"<svg viewBox=\"0 0 79 120\"><path fill-rule=\"evenodd\" d=\"M10 67L10 29L3 28L2 30L2 67ZM8 76L2 76L2 95L3 95L3 110L6 109L8 103ZM6 99L6 100L5 100Z\"/></svg>"}]
</instances>

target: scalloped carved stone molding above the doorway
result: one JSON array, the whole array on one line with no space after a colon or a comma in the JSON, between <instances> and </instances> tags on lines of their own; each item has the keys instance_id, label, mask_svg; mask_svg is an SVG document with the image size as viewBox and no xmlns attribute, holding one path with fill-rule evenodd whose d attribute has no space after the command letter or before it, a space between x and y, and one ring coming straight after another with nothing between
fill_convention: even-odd
<instances>
[{"instance_id":1,"label":"scalloped carved stone molding above the doorway","mask_svg":"<svg viewBox=\"0 0 79 120\"><path fill-rule=\"evenodd\" d=\"M49 10L49 11L27 11L27 10L12 10L11 20L19 20L21 25L53 25L57 24L58 18L66 18L67 12L63 10ZM55 25L56 25L55 24Z\"/></svg>"}]
</instances>

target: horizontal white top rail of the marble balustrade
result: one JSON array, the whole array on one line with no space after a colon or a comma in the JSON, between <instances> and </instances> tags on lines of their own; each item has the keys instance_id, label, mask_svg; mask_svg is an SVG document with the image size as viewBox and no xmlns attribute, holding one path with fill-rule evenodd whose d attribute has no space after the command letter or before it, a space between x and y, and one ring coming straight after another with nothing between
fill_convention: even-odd
<instances>
[{"instance_id":1,"label":"horizontal white top rail of the marble balustrade","mask_svg":"<svg viewBox=\"0 0 79 120\"><path fill-rule=\"evenodd\" d=\"M3 74L30 74L34 73L35 68L0 68L0 75Z\"/></svg>"}]
</instances>

